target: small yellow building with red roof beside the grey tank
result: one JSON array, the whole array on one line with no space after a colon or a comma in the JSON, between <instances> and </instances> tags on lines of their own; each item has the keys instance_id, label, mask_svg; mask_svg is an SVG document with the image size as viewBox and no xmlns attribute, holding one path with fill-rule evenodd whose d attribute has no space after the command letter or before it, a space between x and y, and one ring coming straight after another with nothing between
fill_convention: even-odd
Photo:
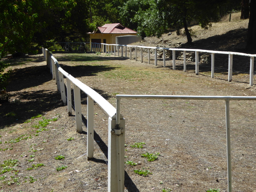
<instances>
[{"instance_id":1,"label":"small yellow building with red roof beside the grey tank","mask_svg":"<svg viewBox=\"0 0 256 192\"><path fill-rule=\"evenodd\" d=\"M137 35L137 31L124 27L121 23L105 24L90 35L90 43L116 44L117 36ZM101 48L101 47L100 47Z\"/></svg>"}]
</instances>

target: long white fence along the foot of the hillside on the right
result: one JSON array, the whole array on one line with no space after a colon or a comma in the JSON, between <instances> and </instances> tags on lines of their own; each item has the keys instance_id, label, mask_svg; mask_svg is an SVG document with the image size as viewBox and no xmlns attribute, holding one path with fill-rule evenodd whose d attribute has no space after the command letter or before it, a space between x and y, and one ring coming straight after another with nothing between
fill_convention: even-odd
<instances>
[{"instance_id":1,"label":"long white fence along the foot of the hillside on the right","mask_svg":"<svg viewBox=\"0 0 256 192\"><path fill-rule=\"evenodd\" d=\"M104 45L106 45L106 49L104 50ZM110 49L109 49L110 46ZM127 57L127 47L130 47L130 60L132 59L132 47L135 47L135 60L137 61L137 48L140 48L140 58L141 62L143 62L143 52L142 49L148 49L148 63L150 63L150 49L155 49L155 66L157 66L157 50L163 50L163 61L164 61L164 67L166 64L165 61L165 52L167 50L172 51L172 68L175 70L176 62L175 62L175 51L182 51L184 56L184 71L186 71L186 52L195 52L196 57L196 66L195 71L196 75L199 75L199 52L204 53L211 53L212 55L212 70L211 70L211 77L214 78L214 54L226 54L228 55L228 81L232 81L232 68L233 68L233 55L240 55L240 56L246 56L250 57L250 86L253 85L253 64L254 64L254 57L256 57L256 54L247 54L247 53L239 53L239 52L224 52L224 51L209 51L209 50L201 50L201 49L177 49L177 48L165 48L165 47L146 47L146 46L137 46L137 45L119 45L119 44L104 44L104 43L91 43L91 51L93 52L106 52L107 53L107 47L108 47L108 53L112 52L112 46L114 47L114 55L116 56L116 49L118 50L118 56L119 56L119 48L121 47L121 56L123 57L123 47L125 47L125 57ZM100 48L101 47L101 48Z\"/></svg>"}]
</instances>

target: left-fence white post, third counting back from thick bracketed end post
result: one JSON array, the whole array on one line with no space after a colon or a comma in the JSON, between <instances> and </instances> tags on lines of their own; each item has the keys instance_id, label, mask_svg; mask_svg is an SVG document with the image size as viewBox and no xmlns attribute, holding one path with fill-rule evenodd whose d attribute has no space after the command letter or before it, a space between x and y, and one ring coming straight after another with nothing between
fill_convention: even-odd
<instances>
[{"instance_id":1,"label":"left-fence white post, third counting back from thick bracketed end post","mask_svg":"<svg viewBox=\"0 0 256 192\"><path fill-rule=\"evenodd\" d=\"M76 114L76 132L83 132L82 129L82 113L81 113L81 94L80 89L74 84L74 100Z\"/></svg>"}]
</instances>

